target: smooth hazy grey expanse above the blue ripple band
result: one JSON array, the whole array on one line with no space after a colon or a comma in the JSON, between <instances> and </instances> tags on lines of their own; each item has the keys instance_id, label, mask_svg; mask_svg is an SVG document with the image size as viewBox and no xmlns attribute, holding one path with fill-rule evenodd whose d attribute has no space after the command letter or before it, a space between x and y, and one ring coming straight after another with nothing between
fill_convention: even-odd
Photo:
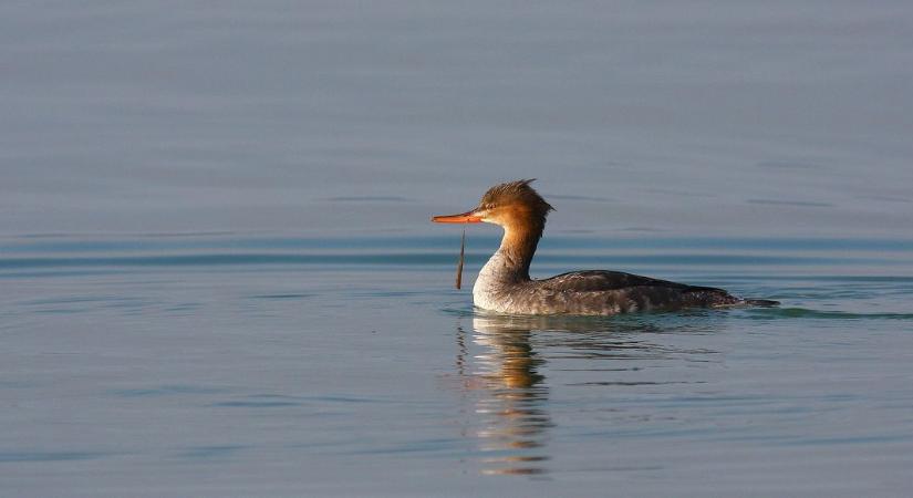
<instances>
[{"instance_id":1,"label":"smooth hazy grey expanse above the blue ripple band","mask_svg":"<svg viewBox=\"0 0 913 498\"><path fill-rule=\"evenodd\" d=\"M0 232L913 234L909 1L0 3Z\"/></svg>"}]
</instances>

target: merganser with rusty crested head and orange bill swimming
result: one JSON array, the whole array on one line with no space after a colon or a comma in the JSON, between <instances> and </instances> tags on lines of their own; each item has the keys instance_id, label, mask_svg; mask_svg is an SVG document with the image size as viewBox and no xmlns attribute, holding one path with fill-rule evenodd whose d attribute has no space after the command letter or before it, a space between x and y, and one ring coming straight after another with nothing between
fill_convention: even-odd
<instances>
[{"instance_id":1,"label":"merganser with rusty crested head and orange bill swimming","mask_svg":"<svg viewBox=\"0 0 913 498\"><path fill-rule=\"evenodd\" d=\"M529 186L531 181L497 185L488 189L471 210L432 218L438 224L488 222L504 228L501 246L485 263L473 287L473 302L478 308L511 314L610 315L778 304L776 301L739 299L723 289L619 271L573 271L533 280L529 277L529 264L546 228L546 218L554 208Z\"/></svg>"}]
</instances>

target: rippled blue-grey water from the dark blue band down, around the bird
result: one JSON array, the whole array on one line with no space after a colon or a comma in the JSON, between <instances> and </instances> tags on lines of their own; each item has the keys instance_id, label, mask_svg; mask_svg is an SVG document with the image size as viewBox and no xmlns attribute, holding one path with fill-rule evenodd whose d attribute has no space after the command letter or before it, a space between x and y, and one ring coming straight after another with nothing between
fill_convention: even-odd
<instances>
[{"instance_id":1,"label":"rippled blue-grey water from the dark blue band down, around the bird","mask_svg":"<svg viewBox=\"0 0 913 498\"><path fill-rule=\"evenodd\" d=\"M496 242L469 239L469 273ZM547 238L540 274L625 268L784 302L615 318L473 310L469 292L450 288L457 243L4 238L4 487L851 496L910 486L913 241Z\"/></svg>"}]
</instances>

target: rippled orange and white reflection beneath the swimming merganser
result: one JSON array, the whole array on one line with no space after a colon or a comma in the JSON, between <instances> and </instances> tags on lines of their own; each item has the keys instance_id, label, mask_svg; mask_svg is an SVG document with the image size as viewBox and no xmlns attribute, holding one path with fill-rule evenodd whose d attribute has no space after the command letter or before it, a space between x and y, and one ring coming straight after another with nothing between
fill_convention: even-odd
<instances>
[{"instance_id":1,"label":"rippled orange and white reflection beneath the swimming merganser","mask_svg":"<svg viewBox=\"0 0 913 498\"><path fill-rule=\"evenodd\" d=\"M644 341L644 332L686 329L668 321L663 325L649 320L475 314L468 344L458 326L457 373L473 405L466 435L478 440L481 471L547 474L549 428L554 424L542 373L546 357L533 341L546 352L563 351L561 357L580 361L652 361L694 353Z\"/></svg>"}]
</instances>

